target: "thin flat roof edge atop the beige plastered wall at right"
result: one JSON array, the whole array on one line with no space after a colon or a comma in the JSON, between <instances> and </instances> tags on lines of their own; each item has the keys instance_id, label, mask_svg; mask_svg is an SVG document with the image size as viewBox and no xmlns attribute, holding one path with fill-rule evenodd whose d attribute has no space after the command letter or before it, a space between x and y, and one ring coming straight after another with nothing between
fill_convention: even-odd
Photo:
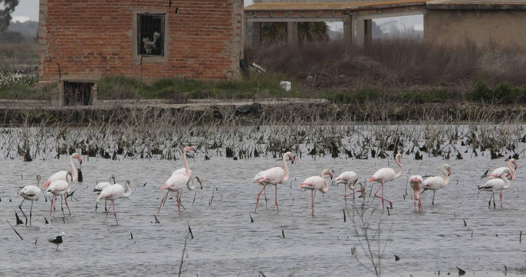
<instances>
[{"instance_id":1,"label":"thin flat roof edge atop the beige plastered wall at right","mask_svg":"<svg viewBox=\"0 0 526 277\"><path fill-rule=\"evenodd\" d=\"M526 1L453 1L434 0L428 9L526 9Z\"/></svg>"}]
</instances>

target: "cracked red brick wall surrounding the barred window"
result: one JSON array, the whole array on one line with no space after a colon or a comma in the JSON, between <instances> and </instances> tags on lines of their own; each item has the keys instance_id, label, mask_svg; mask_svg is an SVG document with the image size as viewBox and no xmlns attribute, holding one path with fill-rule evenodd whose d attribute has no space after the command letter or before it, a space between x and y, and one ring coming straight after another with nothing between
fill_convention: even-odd
<instances>
[{"instance_id":1,"label":"cracked red brick wall surrounding the barred window","mask_svg":"<svg viewBox=\"0 0 526 277\"><path fill-rule=\"evenodd\" d=\"M41 0L40 80L96 80L119 74L236 78L242 1L171 1L169 5L170 0ZM135 8L166 9L167 62L132 61Z\"/></svg>"}]
</instances>

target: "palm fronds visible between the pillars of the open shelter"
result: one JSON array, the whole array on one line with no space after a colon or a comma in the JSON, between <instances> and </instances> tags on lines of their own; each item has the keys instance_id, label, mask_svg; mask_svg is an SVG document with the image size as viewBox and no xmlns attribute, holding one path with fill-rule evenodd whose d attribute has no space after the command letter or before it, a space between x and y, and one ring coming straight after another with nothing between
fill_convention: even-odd
<instances>
[{"instance_id":1,"label":"palm fronds visible between the pillars of the open shelter","mask_svg":"<svg viewBox=\"0 0 526 277\"><path fill-rule=\"evenodd\" d=\"M325 22L299 22L300 41L320 41L329 39L329 25ZM287 41L286 22L265 22L261 24L261 41L279 43Z\"/></svg>"}]
</instances>

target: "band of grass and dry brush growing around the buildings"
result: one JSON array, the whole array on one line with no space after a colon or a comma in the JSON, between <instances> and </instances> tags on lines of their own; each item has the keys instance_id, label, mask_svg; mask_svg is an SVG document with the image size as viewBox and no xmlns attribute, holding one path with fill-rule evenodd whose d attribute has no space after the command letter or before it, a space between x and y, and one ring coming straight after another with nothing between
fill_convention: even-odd
<instances>
[{"instance_id":1,"label":"band of grass and dry brush growing around the buildings","mask_svg":"<svg viewBox=\"0 0 526 277\"><path fill-rule=\"evenodd\" d=\"M32 87L37 81L37 47L24 46L0 45L0 98L46 99L45 92ZM98 96L107 100L301 97L336 103L515 104L526 102L525 54L513 46L477 47L469 42L452 46L411 38L375 41L368 47L344 46L341 41L296 48L274 45L245 53L248 60L266 68L266 74L216 82L103 76ZM33 75L13 73L20 68ZM292 90L281 90L280 81L291 81Z\"/></svg>"}]
</instances>

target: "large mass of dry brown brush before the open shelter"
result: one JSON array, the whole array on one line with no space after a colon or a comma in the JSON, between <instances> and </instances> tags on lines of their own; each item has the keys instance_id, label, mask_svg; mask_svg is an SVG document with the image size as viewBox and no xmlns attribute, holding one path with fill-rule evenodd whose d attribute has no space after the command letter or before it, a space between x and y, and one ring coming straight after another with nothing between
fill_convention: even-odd
<instances>
[{"instance_id":1,"label":"large mass of dry brown brush before the open shelter","mask_svg":"<svg viewBox=\"0 0 526 277\"><path fill-rule=\"evenodd\" d=\"M342 40L298 47L266 45L246 50L245 57L297 80L313 76L308 82L320 87L470 88L477 82L524 84L525 52L517 45L477 46L470 41L453 45L407 37L376 39L367 46L346 45Z\"/></svg>"}]
</instances>

